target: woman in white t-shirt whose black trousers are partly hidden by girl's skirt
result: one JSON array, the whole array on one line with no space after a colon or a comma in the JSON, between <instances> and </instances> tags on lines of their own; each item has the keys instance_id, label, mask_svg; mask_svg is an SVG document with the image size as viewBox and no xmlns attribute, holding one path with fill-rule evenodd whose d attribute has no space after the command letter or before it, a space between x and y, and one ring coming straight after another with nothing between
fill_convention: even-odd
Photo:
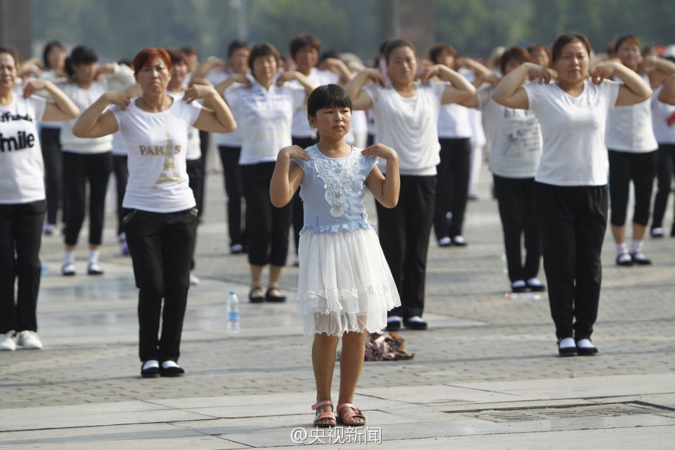
<instances>
[{"instance_id":1,"label":"woman in white t-shirt whose black trousers are partly hidden by girl's skirt","mask_svg":"<svg viewBox=\"0 0 675 450\"><path fill-rule=\"evenodd\" d=\"M371 109L377 139L396 149L401 165L401 195L396 208L377 205L379 240L392 269L401 296L401 307L389 311L387 329L404 325L425 330L424 282L429 233L433 223L438 151L438 114L441 105L463 102L475 88L463 76L445 65L432 65L417 73L415 48L396 39L384 50L385 84L378 69L367 69L347 82L345 90L353 109ZM429 81L438 76L442 82ZM417 79L419 78L419 81ZM374 81L367 85L368 82ZM380 170L384 172L384 166Z\"/></svg>"}]
</instances>

